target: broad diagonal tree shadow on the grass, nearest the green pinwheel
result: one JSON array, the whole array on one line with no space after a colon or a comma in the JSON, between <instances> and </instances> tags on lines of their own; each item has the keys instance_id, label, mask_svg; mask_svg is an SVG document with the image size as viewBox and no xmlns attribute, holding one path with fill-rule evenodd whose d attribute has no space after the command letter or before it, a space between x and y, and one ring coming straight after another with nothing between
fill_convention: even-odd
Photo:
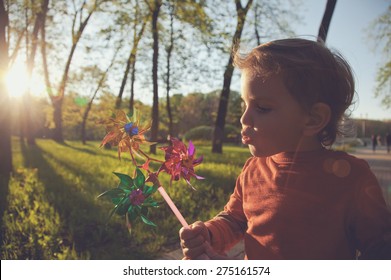
<instances>
[{"instance_id":1,"label":"broad diagonal tree shadow on the grass, nearest the green pinwheel","mask_svg":"<svg viewBox=\"0 0 391 280\"><path fill-rule=\"evenodd\" d=\"M118 223L111 223L105 227L106 209L98 208L95 197L89 199L88 193L77 186L77 182L66 180L65 174L53 168L46 160L50 154L42 150L39 145L26 146L21 143L24 165L37 168L40 181L45 186L45 195L61 217L61 238L64 245L74 247L80 255L89 255L92 259L138 259L146 258L132 248L129 236ZM50 159L51 161L52 159ZM65 169L65 166L60 162ZM80 173L72 168L69 172ZM89 183L97 184L90 174L83 174L89 178Z\"/></svg>"}]
</instances>

